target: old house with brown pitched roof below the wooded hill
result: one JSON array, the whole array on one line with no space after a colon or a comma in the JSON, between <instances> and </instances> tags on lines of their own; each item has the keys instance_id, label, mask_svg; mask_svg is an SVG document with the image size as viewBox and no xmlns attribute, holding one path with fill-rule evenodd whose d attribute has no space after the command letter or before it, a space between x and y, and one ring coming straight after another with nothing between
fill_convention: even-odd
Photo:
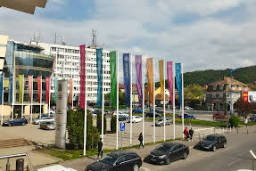
<instances>
[{"instance_id":1,"label":"old house with brown pitched roof below the wooded hill","mask_svg":"<svg viewBox=\"0 0 256 171\"><path fill-rule=\"evenodd\" d=\"M234 106L234 103L241 97L242 92L249 90L248 85L234 78L224 77L208 85L205 92L206 108L207 110L230 110L230 105Z\"/></svg>"}]
</instances>

